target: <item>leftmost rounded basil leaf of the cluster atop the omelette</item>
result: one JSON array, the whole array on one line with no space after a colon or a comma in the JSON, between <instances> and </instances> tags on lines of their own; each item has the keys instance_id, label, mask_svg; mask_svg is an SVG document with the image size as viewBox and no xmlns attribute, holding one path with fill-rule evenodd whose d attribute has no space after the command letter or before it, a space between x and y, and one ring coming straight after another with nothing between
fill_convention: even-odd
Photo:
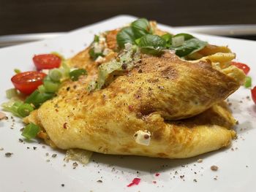
<instances>
[{"instance_id":1,"label":"leftmost rounded basil leaf of the cluster atop the omelette","mask_svg":"<svg viewBox=\"0 0 256 192\"><path fill-rule=\"evenodd\" d=\"M118 43L118 46L121 48L124 48L124 44L126 43L130 43L133 45L135 39L136 38L131 27L122 28L121 31L119 31L116 35L116 41Z\"/></svg>"}]
</instances>

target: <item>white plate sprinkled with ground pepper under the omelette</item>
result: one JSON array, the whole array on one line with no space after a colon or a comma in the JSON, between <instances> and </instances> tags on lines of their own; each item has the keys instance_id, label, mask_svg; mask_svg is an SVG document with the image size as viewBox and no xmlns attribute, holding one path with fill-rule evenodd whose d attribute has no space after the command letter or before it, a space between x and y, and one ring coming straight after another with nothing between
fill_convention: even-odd
<instances>
[{"instance_id":1,"label":"white plate sprinkled with ground pepper under the omelette","mask_svg":"<svg viewBox=\"0 0 256 192\"><path fill-rule=\"evenodd\" d=\"M123 26L134 19L132 16L118 16L55 39L0 49L0 102L7 101L4 91L12 88L10 78L14 74L13 69L32 69L31 58L34 54L57 51L70 57L89 45L99 31ZM178 32L168 26L160 25L160 28ZM214 45L229 45L237 54L237 61L249 64L249 75L256 84L256 42L199 34L195 36ZM233 115L239 120L236 127L238 139L233 141L232 147L181 160L94 153L94 161L72 169L71 161L63 166L64 152L48 146L43 148L43 144L37 142L20 143L18 139L22 138L20 128L23 124L18 118L15 118L14 126L11 118L2 120L0 147L4 147L4 150L0 151L0 191L255 191L256 107L246 96L250 96L250 91L245 88L230 96ZM4 155L7 152L13 155L7 158ZM46 156L45 153L50 155ZM53 153L58 154L56 158L51 158ZM203 158L203 163L197 163L198 158ZM217 165L219 170L211 171L212 165ZM155 173L159 173L159 176ZM127 188L135 177L141 179L140 184ZM102 183L97 180L102 180Z\"/></svg>"}]
</instances>

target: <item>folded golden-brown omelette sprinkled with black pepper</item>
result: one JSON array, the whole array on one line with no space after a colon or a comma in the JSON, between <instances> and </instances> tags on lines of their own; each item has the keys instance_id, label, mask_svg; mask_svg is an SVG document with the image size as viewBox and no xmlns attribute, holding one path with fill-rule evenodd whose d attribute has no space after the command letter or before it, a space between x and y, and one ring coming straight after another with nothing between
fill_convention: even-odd
<instances>
[{"instance_id":1,"label":"folded golden-brown omelette sprinkled with black pepper","mask_svg":"<svg viewBox=\"0 0 256 192\"><path fill-rule=\"evenodd\" d=\"M88 75L65 81L56 97L24 119L42 128L38 137L63 150L159 158L189 158L229 146L236 120L224 100L245 77L230 65L236 55L214 45L185 59L172 50L138 53L129 71L111 73L100 88L89 90L91 82L99 83L99 68L122 54L119 30L108 32L110 51L103 61L92 60L89 47L67 61Z\"/></svg>"}]
</instances>

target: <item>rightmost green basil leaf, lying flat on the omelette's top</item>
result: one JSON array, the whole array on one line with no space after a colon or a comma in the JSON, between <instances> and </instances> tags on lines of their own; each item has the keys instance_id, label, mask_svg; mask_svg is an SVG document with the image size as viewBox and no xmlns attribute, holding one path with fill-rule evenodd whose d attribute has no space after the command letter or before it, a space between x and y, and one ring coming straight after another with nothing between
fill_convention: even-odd
<instances>
[{"instance_id":1,"label":"rightmost green basil leaf, lying flat on the omelette's top","mask_svg":"<svg viewBox=\"0 0 256 192\"><path fill-rule=\"evenodd\" d=\"M186 37L185 37L186 39ZM203 49L207 45L207 42L203 42L200 39L193 37L192 39L185 40L183 45L179 47L170 47L171 50L176 50L176 55L184 57L186 55L197 52Z\"/></svg>"}]
</instances>

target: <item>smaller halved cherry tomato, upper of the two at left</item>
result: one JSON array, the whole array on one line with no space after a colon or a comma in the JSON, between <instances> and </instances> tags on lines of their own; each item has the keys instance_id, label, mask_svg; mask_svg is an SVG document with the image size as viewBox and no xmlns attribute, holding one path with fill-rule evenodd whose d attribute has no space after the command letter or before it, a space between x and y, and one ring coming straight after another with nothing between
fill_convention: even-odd
<instances>
[{"instance_id":1,"label":"smaller halved cherry tomato, upper of the two at left","mask_svg":"<svg viewBox=\"0 0 256 192\"><path fill-rule=\"evenodd\" d=\"M33 61L38 71L58 68L61 65L61 58L53 54L34 55Z\"/></svg>"}]
</instances>

